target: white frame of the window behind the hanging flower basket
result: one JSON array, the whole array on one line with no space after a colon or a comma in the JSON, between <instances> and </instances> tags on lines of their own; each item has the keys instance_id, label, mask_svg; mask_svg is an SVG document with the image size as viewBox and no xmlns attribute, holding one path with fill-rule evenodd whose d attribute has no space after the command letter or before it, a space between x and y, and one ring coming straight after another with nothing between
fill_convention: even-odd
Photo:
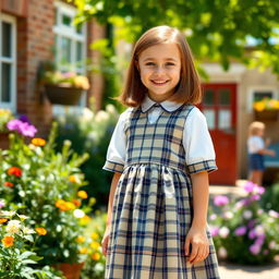
<instances>
[{"instance_id":1,"label":"white frame of the window behind the hanging flower basket","mask_svg":"<svg viewBox=\"0 0 279 279\"><path fill-rule=\"evenodd\" d=\"M57 19L56 19L56 22L57 24L53 26L52 31L53 33L58 36L58 49L62 49L61 48L61 36L63 37L68 37L70 38L72 41L75 41L75 43L82 43L83 44L83 56L84 56L84 61L86 60L86 46L87 46L87 38L86 38L86 24L83 25L82 27L82 34L78 34L77 32L75 32L73 28L75 28L75 26L73 27L69 27L69 26L65 26L62 24L62 15L65 14L70 17L74 17L77 13L77 10L70 5L70 4L66 4L64 2L60 2L60 1L56 1L54 2L54 9L57 9ZM56 51L58 50L56 49ZM72 44L71 46L71 52L73 53L73 56L76 56L76 44ZM71 58L71 69L64 69L63 65L59 65L59 61L61 61L61 52L58 52L57 56L56 56L56 63L58 65L58 70L66 70L66 71L74 71L78 74L83 74L83 75L86 75L86 62L84 62L82 64L82 66L76 66L75 64L75 59L76 58ZM64 106L60 106L60 105L56 105L53 106L53 114L54 116L60 116L60 114L64 114L65 113L65 110L66 111L71 111L71 112L77 112L77 113L81 113L83 108L86 106L86 94L83 94L82 96L82 99L80 101L80 105L77 106L72 106L70 108L64 108Z\"/></svg>"}]
</instances>

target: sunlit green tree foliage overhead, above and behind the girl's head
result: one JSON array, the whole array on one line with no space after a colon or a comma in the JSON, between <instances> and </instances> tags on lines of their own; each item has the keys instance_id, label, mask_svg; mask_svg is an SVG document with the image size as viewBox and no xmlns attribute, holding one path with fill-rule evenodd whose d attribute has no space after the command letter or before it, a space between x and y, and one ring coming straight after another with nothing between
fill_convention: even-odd
<instances>
[{"instance_id":1,"label":"sunlit green tree foliage overhead, above and behind the girl's head","mask_svg":"<svg viewBox=\"0 0 279 279\"><path fill-rule=\"evenodd\" d=\"M78 8L77 23L92 17L111 23L119 26L117 36L129 41L153 26L171 25L185 32L198 61L218 61L227 70L236 59L279 74L277 0L69 1ZM247 38L253 38L253 47L247 47Z\"/></svg>"}]
</instances>

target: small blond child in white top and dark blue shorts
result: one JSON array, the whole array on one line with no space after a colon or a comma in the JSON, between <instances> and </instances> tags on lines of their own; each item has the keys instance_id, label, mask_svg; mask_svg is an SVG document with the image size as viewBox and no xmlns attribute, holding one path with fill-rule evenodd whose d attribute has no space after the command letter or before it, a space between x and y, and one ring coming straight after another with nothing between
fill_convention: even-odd
<instances>
[{"instance_id":1,"label":"small blond child in white top and dark blue shorts","mask_svg":"<svg viewBox=\"0 0 279 279\"><path fill-rule=\"evenodd\" d=\"M267 149L269 141L264 142L265 124L263 122L254 121L248 126L248 180L253 183L262 185L264 174L264 155L275 156L275 151Z\"/></svg>"}]
</instances>

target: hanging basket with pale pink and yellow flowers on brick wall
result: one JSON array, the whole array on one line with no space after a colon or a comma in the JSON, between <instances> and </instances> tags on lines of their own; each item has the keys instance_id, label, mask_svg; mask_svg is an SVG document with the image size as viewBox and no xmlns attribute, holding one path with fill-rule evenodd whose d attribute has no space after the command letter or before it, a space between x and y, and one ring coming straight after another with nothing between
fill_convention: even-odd
<instances>
[{"instance_id":1,"label":"hanging basket with pale pink and yellow flowers on brick wall","mask_svg":"<svg viewBox=\"0 0 279 279\"><path fill-rule=\"evenodd\" d=\"M89 88L88 78L75 72L58 71L50 62L39 69L39 80L51 104L77 105L84 90Z\"/></svg>"}]
</instances>

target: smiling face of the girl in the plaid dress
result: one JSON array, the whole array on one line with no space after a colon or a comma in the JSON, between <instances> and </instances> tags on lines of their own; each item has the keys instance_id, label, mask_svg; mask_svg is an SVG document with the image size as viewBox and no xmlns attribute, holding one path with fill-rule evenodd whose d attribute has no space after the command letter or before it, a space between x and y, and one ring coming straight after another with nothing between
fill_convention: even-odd
<instances>
[{"instance_id":1,"label":"smiling face of the girl in the plaid dress","mask_svg":"<svg viewBox=\"0 0 279 279\"><path fill-rule=\"evenodd\" d=\"M145 49L137 64L142 83L155 101L163 101L180 81L181 57L175 44L160 44Z\"/></svg>"}]
</instances>

